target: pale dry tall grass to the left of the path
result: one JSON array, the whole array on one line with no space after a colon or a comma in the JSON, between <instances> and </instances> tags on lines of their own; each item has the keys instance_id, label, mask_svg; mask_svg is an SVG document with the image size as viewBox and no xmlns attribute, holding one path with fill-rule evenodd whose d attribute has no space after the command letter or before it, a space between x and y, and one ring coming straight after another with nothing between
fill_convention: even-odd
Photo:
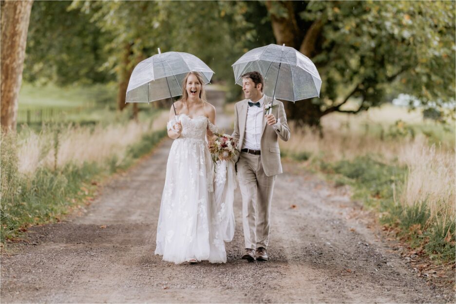
<instances>
[{"instance_id":1,"label":"pale dry tall grass to the left of the path","mask_svg":"<svg viewBox=\"0 0 456 304\"><path fill-rule=\"evenodd\" d=\"M142 122L108 126L68 126L57 133L57 167L68 163L102 161L117 156L119 162L126 155L127 147L138 142L145 133L158 131L166 126L167 113ZM19 172L33 174L39 167L53 168L56 160L56 130L27 133L18 143Z\"/></svg>"}]
</instances>

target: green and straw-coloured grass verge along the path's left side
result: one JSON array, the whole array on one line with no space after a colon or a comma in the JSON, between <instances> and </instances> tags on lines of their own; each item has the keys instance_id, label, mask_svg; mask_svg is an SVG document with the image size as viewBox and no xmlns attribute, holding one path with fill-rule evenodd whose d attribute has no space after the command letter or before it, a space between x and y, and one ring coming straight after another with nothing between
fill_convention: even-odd
<instances>
[{"instance_id":1,"label":"green and straw-coloured grass verge along the path's left side","mask_svg":"<svg viewBox=\"0 0 456 304\"><path fill-rule=\"evenodd\" d=\"M18 137L1 134L1 243L4 245L8 241L18 239L21 233L32 225L60 221L62 215L90 203L96 190L96 180L109 176L119 169L130 167L136 159L149 153L166 135L166 130L156 129L150 128L149 132L138 131L140 140L132 141L125 147L125 152L107 153L101 160L88 155L83 161L80 158L76 161L75 158L67 157L62 163L62 156L68 155L63 151L66 154L58 156L63 150L61 145L64 142L56 140L55 147L49 147L52 143L47 143L47 147L41 147L34 152L42 155L41 161L37 161L39 165L32 171L20 170L23 166L20 164L21 160L31 157L30 154L24 157L18 153L21 149L18 147ZM49 136L53 134L56 134L57 138L58 133L44 134L41 138L52 142ZM81 134L85 133L76 135ZM92 130L84 138L89 141L89 136L96 136L96 132ZM113 137L113 142L114 139ZM118 141L118 138L116 140ZM23 142L25 143L22 144L22 149L30 141ZM53 148L54 151L52 151ZM49 155L55 155L55 161L46 163L45 160Z\"/></svg>"}]
</instances>

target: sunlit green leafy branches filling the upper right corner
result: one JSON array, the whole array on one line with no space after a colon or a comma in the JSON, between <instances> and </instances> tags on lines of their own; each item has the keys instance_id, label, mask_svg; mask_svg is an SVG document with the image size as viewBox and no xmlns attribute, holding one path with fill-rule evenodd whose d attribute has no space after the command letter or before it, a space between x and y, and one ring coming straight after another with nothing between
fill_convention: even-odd
<instances>
[{"instance_id":1,"label":"sunlit green leafy branches filling the upper right corner","mask_svg":"<svg viewBox=\"0 0 456 304\"><path fill-rule=\"evenodd\" d=\"M454 104L454 2L311 1L308 7L303 18L325 24L314 59L339 87L331 100L357 87L362 107L380 104L385 85L399 76L400 93L431 107Z\"/></svg>"}]
</instances>

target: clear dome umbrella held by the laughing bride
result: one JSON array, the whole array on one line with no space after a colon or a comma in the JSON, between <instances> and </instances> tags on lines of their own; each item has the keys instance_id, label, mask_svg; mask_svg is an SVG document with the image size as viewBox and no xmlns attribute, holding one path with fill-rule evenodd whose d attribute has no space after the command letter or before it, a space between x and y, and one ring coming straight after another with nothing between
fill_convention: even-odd
<instances>
[{"instance_id":1,"label":"clear dome umbrella held by the laughing bride","mask_svg":"<svg viewBox=\"0 0 456 304\"><path fill-rule=\"evenodd\" d=\"M198 57L189 53L166 52L139 62L133 69L125 102L152 102L182 95L182 81L189 72L199 72L204 84L214 72ZM173 104L174 106L174 104ZM174 109L174 113L176 110Z\"/></svg>"}]
</instances>

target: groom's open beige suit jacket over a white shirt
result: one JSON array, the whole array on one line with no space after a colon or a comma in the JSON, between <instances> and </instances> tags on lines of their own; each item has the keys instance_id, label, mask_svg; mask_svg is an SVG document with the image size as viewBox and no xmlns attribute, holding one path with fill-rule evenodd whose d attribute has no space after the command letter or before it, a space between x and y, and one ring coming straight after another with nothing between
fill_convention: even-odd
<instances>
[{"instance_id":1,"label":"groom's open beige suit jacket over a white shirt","mask_svg":"<svg viewBox=\"0 0 456 304\"><path fill-rule=\"evenodd\" d=\"M271 102L272 98L265 96L266 106ZM239 140L237 149L241 151L242 144L244 141L244 135L246 130L247 122L247 108L248 108L248 99L241 100L237 102L234 106L234 132L232 136ZM269 126L266 123L266 117L263 115L263 134L261 136L261 162L263 165L263 170L267 176L272 176L282 173L282 163L280 161L280 148L279 140L280 137L282 140L287 141L290 138L290 129L286 123L286 115L284 104L282 101L274 99L272 114L279 121L277 123L277 129L274 129L272 126ZM235 162L237 162L239 154Z\"/></svg>"}]
</instances>

